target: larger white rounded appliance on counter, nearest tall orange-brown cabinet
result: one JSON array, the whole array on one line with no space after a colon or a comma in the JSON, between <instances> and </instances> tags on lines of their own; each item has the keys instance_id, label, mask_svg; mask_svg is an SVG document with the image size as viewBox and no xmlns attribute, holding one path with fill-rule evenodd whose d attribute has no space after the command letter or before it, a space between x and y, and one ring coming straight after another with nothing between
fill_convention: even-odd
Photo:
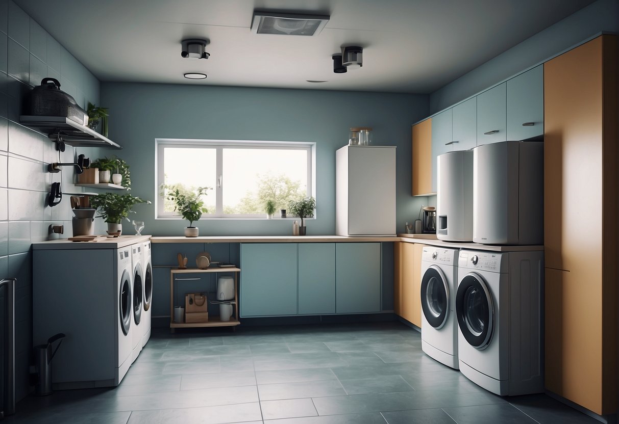
<instances>
[{"instance_id":1,"label":"larger white rounded appliance on counter, nearest tall orange-brown cabinet","mask_svg":"<svg viewBox=\"0 0 619 424\"><path fill-rule=\"evenodd\" d=\"M473 149L473 241L543 244L543 142Z\"/></svg>"}]
</instances>

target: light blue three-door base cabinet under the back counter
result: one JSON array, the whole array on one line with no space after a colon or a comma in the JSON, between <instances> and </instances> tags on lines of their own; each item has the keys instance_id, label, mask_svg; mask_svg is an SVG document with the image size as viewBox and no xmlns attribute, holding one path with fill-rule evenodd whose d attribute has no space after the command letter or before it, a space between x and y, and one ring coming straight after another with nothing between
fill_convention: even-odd
<instances>
[{"instance_id":1,"label":"light blue three-door base cabinet under the back counter","mask_svg":"<svg viewBox=\"0 0 619 424\"><path fill-rule=\"evenodd\" d=\"M380 243L241 244L241 316L381 310Z\"/></svg>"}]
</instances>

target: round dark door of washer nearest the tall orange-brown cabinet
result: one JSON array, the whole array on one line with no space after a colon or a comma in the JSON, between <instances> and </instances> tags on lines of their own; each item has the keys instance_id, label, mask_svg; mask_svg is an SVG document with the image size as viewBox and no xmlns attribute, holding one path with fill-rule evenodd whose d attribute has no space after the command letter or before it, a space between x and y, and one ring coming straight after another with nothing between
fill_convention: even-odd
<instances>
[{"instance_id":1,"label":"round dark door of washer nearest the tall orange-brown cabinet","mask_svg":"<svg viewBox=\"0 0 619 424\"><path fill-rule=\"evenodd\" d=\"M462 336L470 346L486 349L495 326L495 308L488 284L479 274L466 274L458 284L456 316Z\"/></svg>"}]
</instances>

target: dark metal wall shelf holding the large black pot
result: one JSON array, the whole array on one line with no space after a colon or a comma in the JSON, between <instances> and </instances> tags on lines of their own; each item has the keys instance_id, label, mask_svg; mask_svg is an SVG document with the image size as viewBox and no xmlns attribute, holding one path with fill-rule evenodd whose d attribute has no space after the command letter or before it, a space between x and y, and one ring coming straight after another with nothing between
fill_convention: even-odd
<instances>
[{"instance_id":1,"label":"dark metal wall shelf holding the large black pot","mask_svg":"<svg viewBox=\"0 0 619 424\"><path fill-rule=\"evenodd\" d=\"M54 141L60 136L63 142L71 146L123 148L123 146L103 137L86 125L80 125L66 117L22 115L19 117L19 122L29 128L48 134L48 137Z\"/></svg>"}]
</instances>

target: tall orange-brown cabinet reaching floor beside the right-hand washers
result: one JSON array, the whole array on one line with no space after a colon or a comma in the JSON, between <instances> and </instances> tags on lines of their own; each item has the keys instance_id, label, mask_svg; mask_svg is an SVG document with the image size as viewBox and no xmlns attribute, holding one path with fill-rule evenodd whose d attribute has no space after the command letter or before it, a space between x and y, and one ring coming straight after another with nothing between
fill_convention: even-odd
<instances>
[{"instance_id":1,"label":"tall orange-brown cabinet reaching floor beside the right-hand washers","mask_svg":"<svg viewBox=\"0 0 619 424\"><path fill-rule=\"evenodd\" d=\"M545 382L617 412L617 37L546 62Z\"/></svg>"}]
</instances>

